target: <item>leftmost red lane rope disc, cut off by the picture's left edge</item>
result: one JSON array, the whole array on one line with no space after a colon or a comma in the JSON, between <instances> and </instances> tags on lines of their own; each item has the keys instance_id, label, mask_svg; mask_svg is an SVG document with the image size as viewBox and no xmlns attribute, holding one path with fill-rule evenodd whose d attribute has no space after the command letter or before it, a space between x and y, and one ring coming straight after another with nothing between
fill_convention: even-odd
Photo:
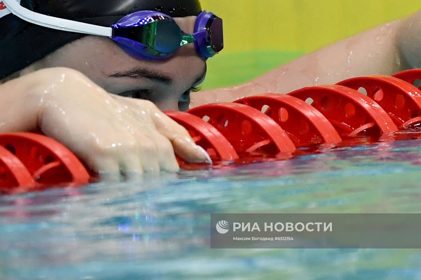
<instances>
[{"instance_id":1,"label":"leftmost red lane rope disc, cut off by the picture's left edge","mask_svg":"<svg viewBox=\"0 0 421 280\"><path fill-rule=\"evenodd\" d=\"M0 146L0 190L33 187L35 181L24 164L13 153Z\"/></svg>"}]
</instances>

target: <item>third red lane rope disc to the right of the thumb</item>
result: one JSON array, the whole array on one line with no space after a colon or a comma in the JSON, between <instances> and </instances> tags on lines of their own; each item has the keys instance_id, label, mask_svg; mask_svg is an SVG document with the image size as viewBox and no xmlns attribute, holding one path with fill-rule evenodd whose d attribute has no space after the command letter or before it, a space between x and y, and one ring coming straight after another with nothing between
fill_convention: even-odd
<instances>
[{"instance_id":1,"label":"third red lane rope disc to the right of the thumb","mask_svg":"<svg viewBox=\"0 0 421 280\"><path fill-rule=\"evenodd\" d=\"M328 119L299 98L269 93L242 98L235 103L251 106L271 117L296 147L342 141Z\"/></svg>"}]
</instances>

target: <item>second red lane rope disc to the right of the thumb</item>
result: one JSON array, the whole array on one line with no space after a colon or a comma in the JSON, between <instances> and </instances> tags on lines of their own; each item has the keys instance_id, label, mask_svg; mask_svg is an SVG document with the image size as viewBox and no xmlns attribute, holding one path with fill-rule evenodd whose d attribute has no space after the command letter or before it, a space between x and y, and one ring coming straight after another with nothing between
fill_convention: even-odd
<instances>
[{"instance_id":1,"label":"second red lane rope disc to the right of the thumb","mask_svg":"<svg viewBox=\"0 0 421 280\"><path fill-rule=\"evenodd\" d=\"M261 111L236 103L208 104L187 111L208 120L237 153L285 157L296 151L285 131Z\"/></svg>"}]
</instances>

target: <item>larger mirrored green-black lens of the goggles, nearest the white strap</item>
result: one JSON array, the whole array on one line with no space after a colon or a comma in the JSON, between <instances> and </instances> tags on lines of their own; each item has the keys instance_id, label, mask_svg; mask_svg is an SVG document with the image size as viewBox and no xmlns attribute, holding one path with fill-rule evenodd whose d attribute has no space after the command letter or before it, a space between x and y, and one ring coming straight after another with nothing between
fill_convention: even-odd
<instances>
[{"instance_id":1,"label":"larger mirrored green-black lens of the goggles, nearest the white strap","mask_svg":"<svg viewBox=\"0 0 421 280\"><path fill-rule=\"evenodd\" d=\"M123 37L146 45L159 53L172 53L181 44L183 34L171 19L157 20L139 26L114 29L113 37Z\"/></svg>"}]
</instances>

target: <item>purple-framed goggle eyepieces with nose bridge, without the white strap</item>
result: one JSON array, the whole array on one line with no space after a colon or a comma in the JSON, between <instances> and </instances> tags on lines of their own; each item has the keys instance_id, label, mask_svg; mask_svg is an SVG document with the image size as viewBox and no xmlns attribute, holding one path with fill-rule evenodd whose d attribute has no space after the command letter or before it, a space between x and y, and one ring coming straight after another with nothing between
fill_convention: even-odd
<instances>
[{"instance_id":1,"label":"purple-framed goggle eyepieces with nose bridge, without the white strap","mask_svg":"<svg viewBox=\"0 0 421 280\"><path fill-rule=\"evenodd\" d=\"M131 13L112 28L111 39L141 59L169 58L181 46L193 42L197 53L206 59L224 48L222 19L206 11L197 17L192 35L184 33L170 16L154 11Z\"/></svg>"}]
</instances>

